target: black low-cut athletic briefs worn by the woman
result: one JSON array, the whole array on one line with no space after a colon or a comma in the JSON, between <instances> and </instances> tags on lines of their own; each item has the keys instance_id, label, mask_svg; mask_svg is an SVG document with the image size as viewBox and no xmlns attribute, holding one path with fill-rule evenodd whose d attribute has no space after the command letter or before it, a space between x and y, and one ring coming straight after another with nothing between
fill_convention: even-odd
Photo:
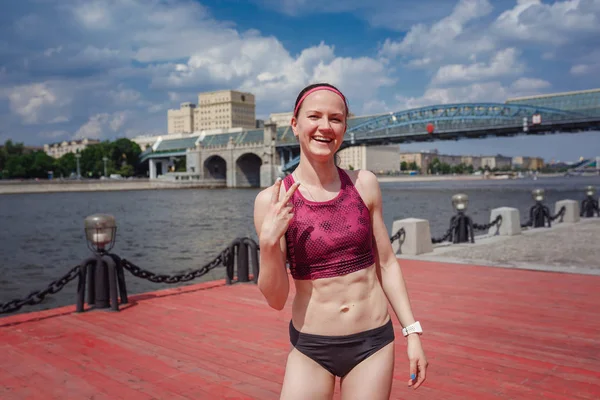
<instances>
[{"instance_id":1,"label":"black low-cut athletic briefs worn by the woman","mask_svg":"<svg viewBox=\"0 0 600 400\"><path fill-rule=\"evenodd\" d=\"M361 361L394 341L392 320L378 328L344 336L299 332L290 321L290 342L335 376L344 377Z\"/></svg>"}]
</instances>

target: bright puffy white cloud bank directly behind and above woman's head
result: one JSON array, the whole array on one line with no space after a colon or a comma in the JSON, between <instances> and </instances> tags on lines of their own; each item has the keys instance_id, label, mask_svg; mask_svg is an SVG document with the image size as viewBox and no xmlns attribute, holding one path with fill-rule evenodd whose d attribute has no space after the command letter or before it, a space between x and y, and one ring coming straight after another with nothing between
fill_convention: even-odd
<instances>
[{"instance_id":1,"label":"bright puffy white cloud bank directly behind and above woman's head","mask_svg":"<svg viewBox=\"0 0 600 400\"><path fill-rule=\"evenodd\" d=\"M292 57L275 38L238 37L226 46L215 46L174 65L171 74L154 81L158 87L188 88L217 83L250 91L263 106L291 107L305 85L326 81L339 86L350 98L369 99L378 88L394 83L381 60L336 57L324 43ZM171 96L174 97L174 96Z\"/></svg>"}]
</instances>

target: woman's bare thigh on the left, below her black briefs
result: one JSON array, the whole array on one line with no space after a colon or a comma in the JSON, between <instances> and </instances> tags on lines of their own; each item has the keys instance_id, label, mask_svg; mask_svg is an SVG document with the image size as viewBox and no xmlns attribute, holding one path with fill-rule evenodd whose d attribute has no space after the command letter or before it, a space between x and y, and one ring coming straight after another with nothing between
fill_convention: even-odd
<instances>
[{"instance_id":1,"label":"woman's bare thigh on the left, below her black briefs","mask_svg":"<svg viewBox=\"0 0 600 400\"><path fill-rule=\"evenodd\" d=\"M330 400L335 377L295 348L288 355L281 389L282 400Z\"/></svg>"}]
</instances>

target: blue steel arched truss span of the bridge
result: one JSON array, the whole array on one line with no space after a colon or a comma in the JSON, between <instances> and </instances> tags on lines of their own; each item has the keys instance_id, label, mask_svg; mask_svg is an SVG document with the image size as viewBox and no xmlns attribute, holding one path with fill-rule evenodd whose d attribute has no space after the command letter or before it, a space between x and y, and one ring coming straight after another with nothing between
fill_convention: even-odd
<instances>
[{"instance_id":1,"label":"blue steel arched truss span of the bridge","mask_svg":"<svg viewBox=\"0 0 600 400\"><path fill-rule=\"evenodd\" d=\"M444 104L381 114L361 119L357 124L349 121L342 148L356 144L458 140L583 131L599 127L600 113L590 115L522 104ZM290 146L298 145L297 142L278 145ZM295 157L284 166L284 170L295 168L298 162L299 157Z\"/></svg>"}]
</instances>

